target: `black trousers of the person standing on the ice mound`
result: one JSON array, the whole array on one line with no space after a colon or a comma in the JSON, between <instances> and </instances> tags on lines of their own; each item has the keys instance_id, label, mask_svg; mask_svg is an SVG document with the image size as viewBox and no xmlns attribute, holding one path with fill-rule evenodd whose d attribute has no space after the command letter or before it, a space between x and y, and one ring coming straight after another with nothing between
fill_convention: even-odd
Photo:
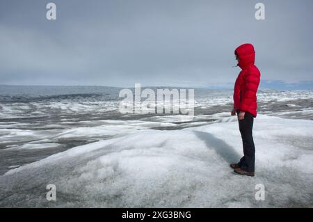
<instances>
[{"instance_id":1,"label":"black trousers of the person standing on the ice mound","mask_svg":"<svg viewBox=\"0 0 313 222\"><path fill-rule=\"evenodd\" d=\"M239 111L236 111L237 115ZM239 120L239 130L243 143L243 157L239 161L239 166L243 171L255 172L255 143L253 142L252 127L254 116L246 112L245 118Z\"/></svg>"}]
</instances>

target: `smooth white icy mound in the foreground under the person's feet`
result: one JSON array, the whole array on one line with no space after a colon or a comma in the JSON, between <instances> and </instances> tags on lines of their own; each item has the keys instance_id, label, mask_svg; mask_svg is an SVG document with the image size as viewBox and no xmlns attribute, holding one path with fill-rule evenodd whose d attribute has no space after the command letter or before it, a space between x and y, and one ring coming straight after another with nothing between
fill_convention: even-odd
<instances>
[{"instance_id":1,"label":"smooth white icy mound in the foreground under the person's feet","mask_svg":"<svg viewBox=\"0 0 313 222\"><path fill-rule=\"evenodd\" d=\"M0 206L312 207L313 123L259 115L256 175L228 166L242 154L238 122L142 129L81 145L0 177ZM45 199L56 184L57 201ZM255 200L264 184L265 200ZM14 193L14 195L13 195Z\"/></svg>"}]
</instances>

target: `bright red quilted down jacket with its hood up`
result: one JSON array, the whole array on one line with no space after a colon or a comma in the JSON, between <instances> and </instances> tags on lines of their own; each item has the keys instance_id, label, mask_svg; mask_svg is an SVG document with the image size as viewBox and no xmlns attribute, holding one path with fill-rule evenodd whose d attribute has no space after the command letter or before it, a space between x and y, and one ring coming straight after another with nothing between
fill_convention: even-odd
<instances>
[{"instance_id":1,"label":"bright red quilted down jacket with its hood up","mask_svg":"<svg viewBox=\"0 0 313 222\"><path fill-rule=\"evenodd\" d=\"M248 111L257 117L257 88L261 74L255 66L255 49L246 43L236 48L235 54L239 56L241 72L234 85L234 109Z\"/></svg>"}]
</instances>

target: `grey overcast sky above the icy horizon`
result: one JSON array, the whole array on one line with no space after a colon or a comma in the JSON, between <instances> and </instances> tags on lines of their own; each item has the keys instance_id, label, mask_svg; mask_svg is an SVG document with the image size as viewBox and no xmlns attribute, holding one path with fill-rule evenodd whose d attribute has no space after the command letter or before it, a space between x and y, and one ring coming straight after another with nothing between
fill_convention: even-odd
<instances>
[{"instance_id":1,"label":"grey overcast sky above the icy horizon","mask_svg":"<svg viewBox=\"0 0 313 222\"><path fill-rule=\"evenodd\" d=\"M255 19L257 2L265 20ZM0 0L0 84L233 86L234 49L245 42L263 81L312 82L312 8L312 0Z\"/></svg>"}]
</instances>

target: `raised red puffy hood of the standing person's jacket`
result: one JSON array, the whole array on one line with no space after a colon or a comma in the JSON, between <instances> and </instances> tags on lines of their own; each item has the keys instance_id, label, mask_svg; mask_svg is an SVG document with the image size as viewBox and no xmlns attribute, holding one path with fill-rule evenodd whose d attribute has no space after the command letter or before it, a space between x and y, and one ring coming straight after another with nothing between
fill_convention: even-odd
<instances>
[{"instance_id":1,"label":"raised red puffy hood of the standing person's jacket","mask_svg":"<svg viewBox=\"0 0 313 222\"><path fill-rule=\"evenodd\" d=\"M248 67L250 64L255 64L255 48L252 44L243 44L237 47L234 53L239 56L238 66L241 69Z\"/></svg>"}]
</instances>

